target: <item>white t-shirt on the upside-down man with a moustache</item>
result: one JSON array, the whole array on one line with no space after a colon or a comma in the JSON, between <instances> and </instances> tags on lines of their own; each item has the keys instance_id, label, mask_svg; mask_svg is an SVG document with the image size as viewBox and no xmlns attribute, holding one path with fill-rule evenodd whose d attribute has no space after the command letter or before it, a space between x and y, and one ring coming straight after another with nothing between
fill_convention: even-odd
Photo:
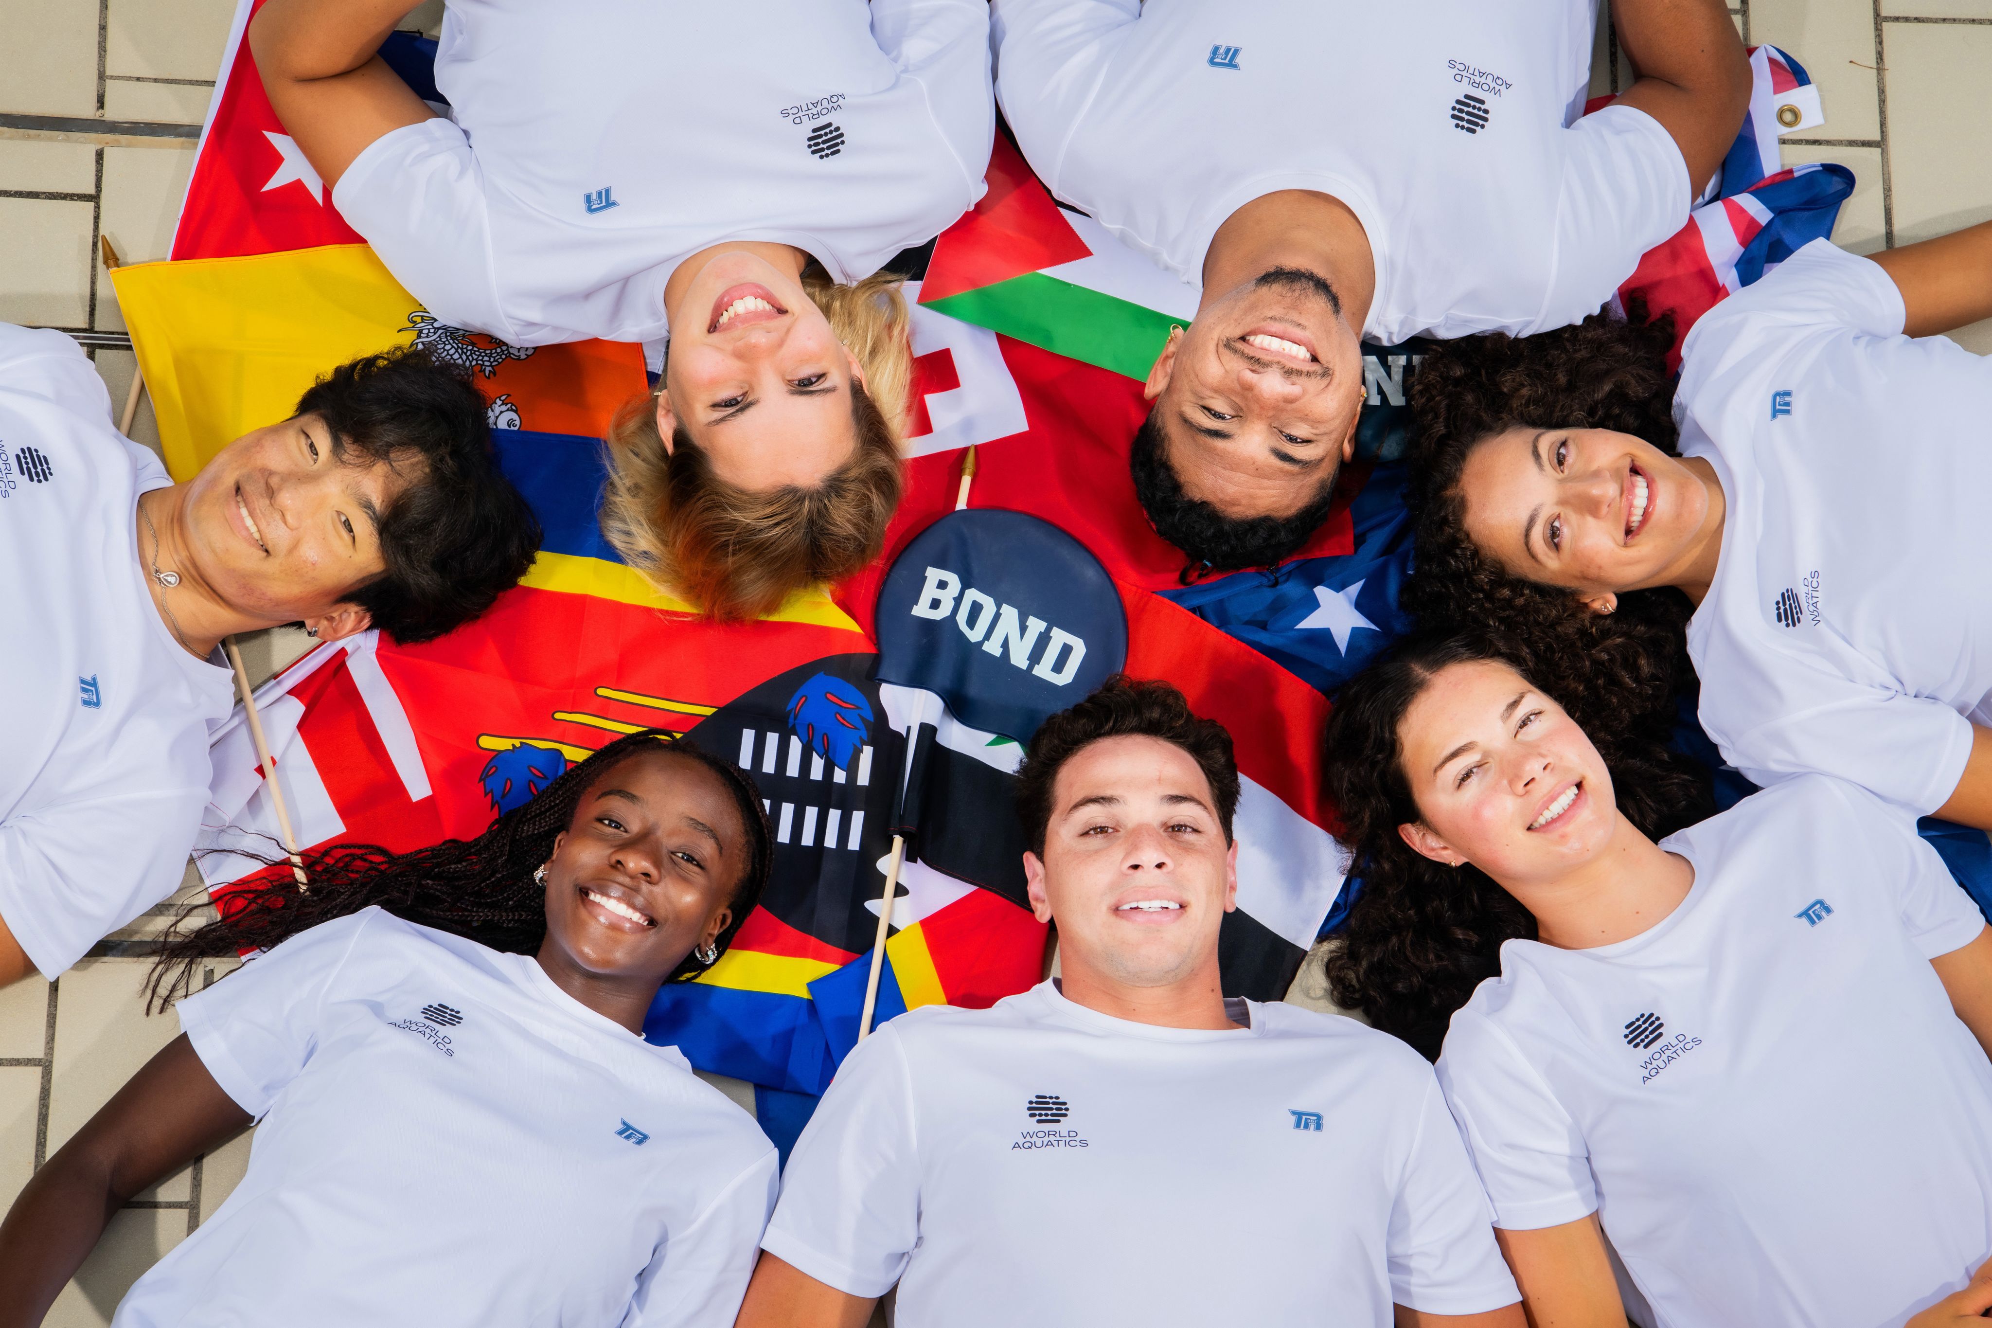
<instances>
[{"instance_id":1,"label":"white t-shirt on the upside-down man with a moustache","mask_svg":"<svg viewBox=\"0 0 1992 1328\"><path fill-rule=\"evenodd\" d=\"M1578 119L1596 0L994 0L996 98L1038 177L1191 285L1217 227L1331 193L1376 255L1378 342L1598 313L1687 221L1645 111Z\"/></svg>"}]
</instances>

